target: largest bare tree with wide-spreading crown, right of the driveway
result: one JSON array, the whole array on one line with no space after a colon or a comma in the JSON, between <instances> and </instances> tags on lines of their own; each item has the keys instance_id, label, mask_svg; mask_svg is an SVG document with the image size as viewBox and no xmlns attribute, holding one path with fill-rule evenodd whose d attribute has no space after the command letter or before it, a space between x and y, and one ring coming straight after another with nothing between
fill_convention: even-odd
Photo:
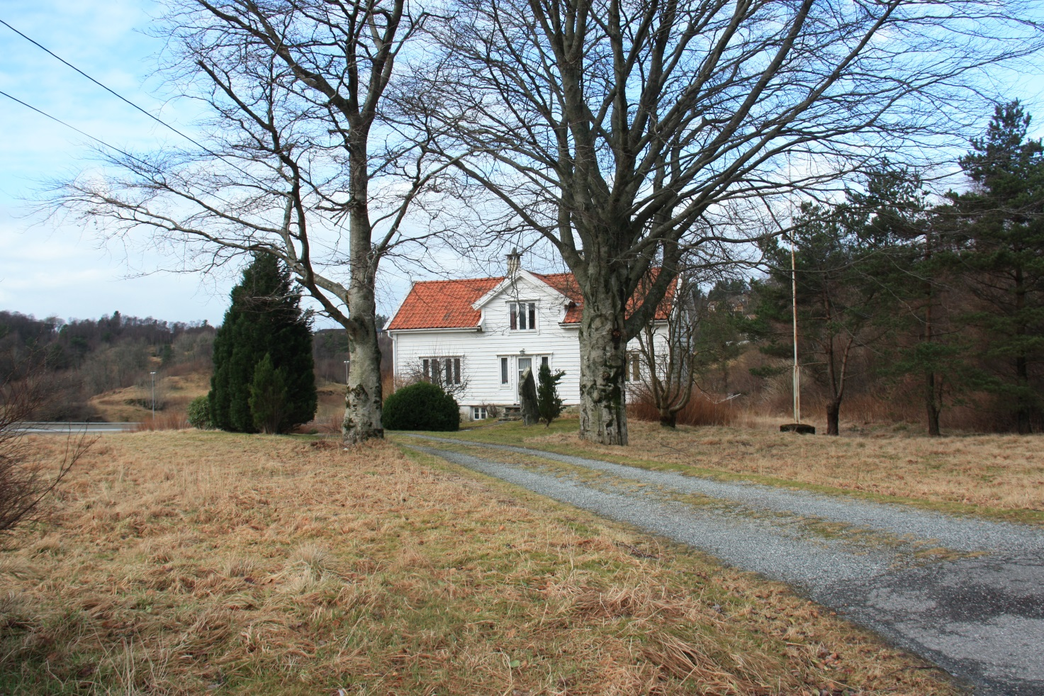
<instances>
[{"instance_id":1,"label":"largest bare tree with wide-spreading crown, right of the driveway","mask_svg":"<svg viewBox=\"0 0 1044 696\"><path fill-rule=\"evenodd\" d=\"M580 435L627 441L625 346L737 209L952 145L984 67L1040 46L1031 3L459 0L407 105L584 296ZM941 136L951 135L950 142ZM465 157L467 152L469 155ZM523 240L525 242L525 240ZM532 242L537 243L537 242ZM641 280L664 269L643 292Z\"/></svg>"}]
</instances>

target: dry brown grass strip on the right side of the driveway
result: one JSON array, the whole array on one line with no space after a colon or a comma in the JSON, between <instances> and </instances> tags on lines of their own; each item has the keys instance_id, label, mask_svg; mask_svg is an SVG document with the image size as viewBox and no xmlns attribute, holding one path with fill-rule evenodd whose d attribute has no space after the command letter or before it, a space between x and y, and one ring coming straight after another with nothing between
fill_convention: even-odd
<instances>
[{"instance_id":1,"label":"dry brown grass strip on the right side of the driveway","mask_svg":"<svg viewBox=\"0 0 1044 696\"><path fill-rule=\"evenodd\" d=\"M623 449L579 439L575 418L557 421L550 429L509 423L455 436L1044 524L1044 436L938 438L881 430L827 437L781 433L778 418L744 416L743 423L670 430L631 421L631 445Z\"/></svg>"}]
</instances>

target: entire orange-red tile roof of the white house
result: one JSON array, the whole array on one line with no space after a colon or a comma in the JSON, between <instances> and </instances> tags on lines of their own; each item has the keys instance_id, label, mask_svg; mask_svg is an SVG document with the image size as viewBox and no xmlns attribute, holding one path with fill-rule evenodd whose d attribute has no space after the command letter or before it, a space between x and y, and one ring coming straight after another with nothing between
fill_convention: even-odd
<instances>
[{"instance_id":1,"label":"entire orange-red tile roof of the white house","mask_svg":"<svg viewBox=\"0 0 1044 696\"><path fill-rule=\"evenodd\" d=\"M562 323L579 323L584 312L584 296L572 273L533 273L570 299ZM471 329L482 317L471 308L482 295L497 287L501 278L476 278L461 281L421 281L413 284L395 318L387 326L389 331L402 329ZM666 319L675 283L671 283L667 296L657 309L656 318ZM634 298L627 310L634 307Z\"/></svg>"}]
</instances>

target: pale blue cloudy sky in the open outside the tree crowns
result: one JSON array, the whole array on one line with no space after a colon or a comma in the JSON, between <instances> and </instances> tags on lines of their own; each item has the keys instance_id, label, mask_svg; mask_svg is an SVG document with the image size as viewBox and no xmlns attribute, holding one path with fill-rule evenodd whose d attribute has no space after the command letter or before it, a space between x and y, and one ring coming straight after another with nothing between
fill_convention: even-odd
<instances>
[{"instance_id":1,"label":"pale blue cloudy sky in the open outside the tree crowns","mask_svg":"<svg viewBox=\"0 0 1044 696\"><path fill-rule=\"evenodd\" d=\"M162 42L148 37L151 0L0 0L0 18L146 110L192 133L193 114L159 98L148 79ZM1039 76L1011 80L1044 124ZM1010 88L1013 89L1013 88ZM149 148L179 137L0 25L0 90L113 145ZM1041 133L1041 128L1035 128ZM89 141L0 97L0 310L38 317L97 317L119 310L168 320L219 322L234 277L153 272L165 263L147 247L99 246L90 230L27 217L27 199L48 179L90 166ZM393 278L380 311L408 285Z\"/></svg>"}]
</instances>

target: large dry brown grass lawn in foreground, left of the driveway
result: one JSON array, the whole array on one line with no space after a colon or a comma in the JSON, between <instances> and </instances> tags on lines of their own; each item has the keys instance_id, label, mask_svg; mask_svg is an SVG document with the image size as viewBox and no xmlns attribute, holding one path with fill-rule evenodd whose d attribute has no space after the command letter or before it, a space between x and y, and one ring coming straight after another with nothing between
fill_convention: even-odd
<instances>
[{"instance_id":1,"label":"large dry brown grass lawn in foreground, left of the driveway","mask_svg":"<svg viewBox=\"0 0 1044 696\"><path fill-rule=\"evenodd\" d=\"M390 442L103 436L0 587L3 694L955 693L783 585Z\"/></svg>"}]
</instances>

